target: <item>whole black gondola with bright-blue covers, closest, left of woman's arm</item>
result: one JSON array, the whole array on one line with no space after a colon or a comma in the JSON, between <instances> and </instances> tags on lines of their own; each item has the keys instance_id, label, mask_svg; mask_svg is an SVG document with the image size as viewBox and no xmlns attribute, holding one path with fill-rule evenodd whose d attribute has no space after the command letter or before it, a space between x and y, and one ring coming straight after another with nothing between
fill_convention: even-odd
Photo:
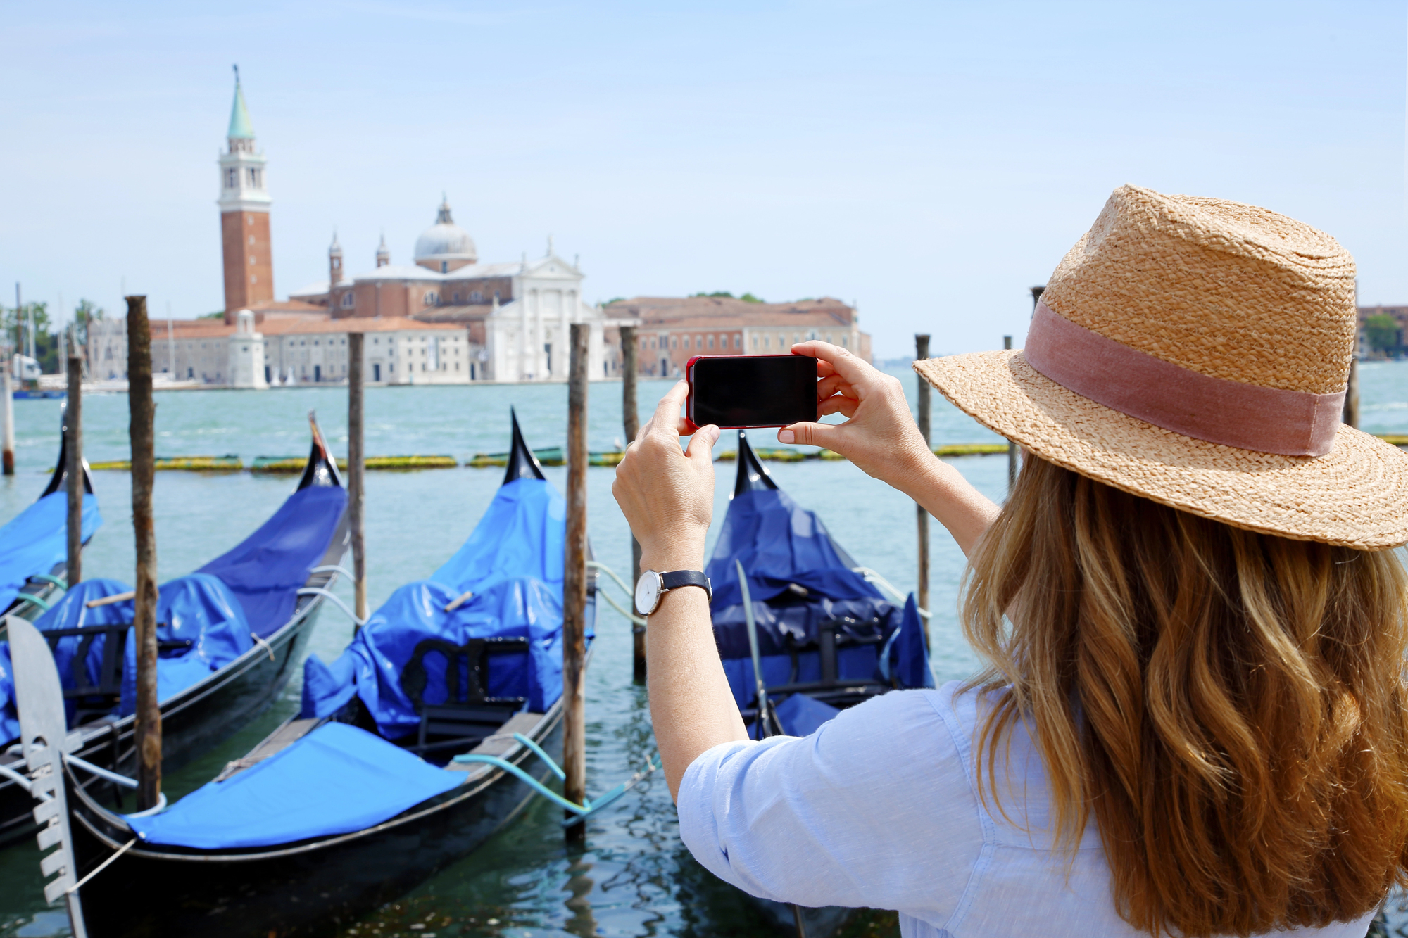
<instances>
[{"instance_id":1,"label":"whole black gondola with bright-blue covers, closest, left of woman's arm","mask_svg":"<svg viewBox=\"0 0 1408 938\"><path fill-rule=\"evenodd\" d=\"M308 658L296 718L149 817L107 810L70 766L77 873L111 861L80 890L89 934L322 934L513 818L531 797L513 770L541 782L562 739L565 537L563 499L514 420L469 539L337 661ZM589 637L594 615L589 580Z\"/></svg>"}]
</instances>

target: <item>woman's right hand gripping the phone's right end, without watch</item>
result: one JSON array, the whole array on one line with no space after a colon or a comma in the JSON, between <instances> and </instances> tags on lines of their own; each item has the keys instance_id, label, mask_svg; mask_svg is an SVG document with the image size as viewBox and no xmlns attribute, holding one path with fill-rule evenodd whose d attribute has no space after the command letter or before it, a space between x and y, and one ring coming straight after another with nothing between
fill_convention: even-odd
<instances>
[{"instance_id":1,"label":"woman's right hand gripping the phone's right end, without watch","mask_svg":"<svg viewBox=\"0 0 1408 938\"><path fill-rule=\"evenodd\" d=\"M817 359L817 415L839 413L849 420L783 427L777 441L825 446L876 479L911 490L935 459L900 380L829 342L800 342L791 351Z\"/></svg>"}]
</instances>

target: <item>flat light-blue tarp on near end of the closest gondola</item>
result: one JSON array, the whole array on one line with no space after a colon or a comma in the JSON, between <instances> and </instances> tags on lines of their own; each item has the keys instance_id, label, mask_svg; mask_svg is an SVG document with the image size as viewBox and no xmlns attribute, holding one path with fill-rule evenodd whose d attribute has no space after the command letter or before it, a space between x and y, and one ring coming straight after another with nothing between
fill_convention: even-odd
<instances>
[{"instance_id":1,"label":"flat light-blue tarp on near end of the closest gondola","mask_svg":"<svg viewBox=\"0 0 1408 938\"><path fill-rule=\"evenodd\" d=\"M349 834L465 780L376 735L328 723L224 782L152 817L130 817L148 844L227 849Z\"/></svg>"}]
</instances>

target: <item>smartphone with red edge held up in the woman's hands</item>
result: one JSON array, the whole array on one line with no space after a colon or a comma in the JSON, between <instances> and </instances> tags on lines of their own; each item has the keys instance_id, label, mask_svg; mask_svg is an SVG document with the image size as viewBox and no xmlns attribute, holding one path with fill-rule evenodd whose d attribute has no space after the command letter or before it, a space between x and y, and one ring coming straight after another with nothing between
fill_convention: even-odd
<instances>
[{"instance_id":1,"label":"smartphone with red edge held up in the woman's hands","mask_svg":"<svg viewBox=\"0 0 1408 938\"><path fill-rule=\"evenodd\" d=\"M817 359L808 355L696 355L684 365L693 428L787 427L817 420Z\"/></svg>"}]
</instances>

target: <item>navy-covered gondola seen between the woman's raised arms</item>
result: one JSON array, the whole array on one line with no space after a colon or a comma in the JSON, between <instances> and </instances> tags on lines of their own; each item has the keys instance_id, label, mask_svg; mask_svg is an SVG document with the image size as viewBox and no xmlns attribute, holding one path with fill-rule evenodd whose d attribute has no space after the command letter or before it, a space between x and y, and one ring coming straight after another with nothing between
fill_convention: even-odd
<instances>
[{"instance_id":1,"label":"navy-covered gondola seen between the woman's raised arms","mask_svg":"<svg viewBox=\"0 0 1408 938\"><path fill-rule=\"evenodd\" d=\"M887 599L821 518L777 487L743 431L705 573L724 672L755 739L804 737L846 707L897 687L934 686L914 596ZM804 938L835 934L852 911L755 901Z\"/></svg>"}]
</instances>

